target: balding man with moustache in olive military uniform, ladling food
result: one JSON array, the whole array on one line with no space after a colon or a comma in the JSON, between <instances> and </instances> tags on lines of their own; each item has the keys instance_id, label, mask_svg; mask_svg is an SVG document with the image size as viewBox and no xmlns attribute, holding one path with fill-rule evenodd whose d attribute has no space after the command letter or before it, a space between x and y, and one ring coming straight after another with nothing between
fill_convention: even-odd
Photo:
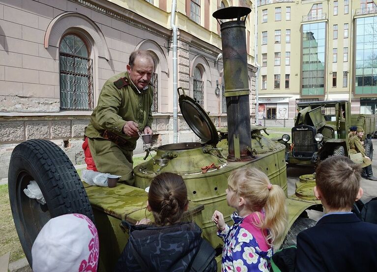
<instances>
[{"instance_id":1,"label":"balding man with moustache in olive military uniform, ladling food","mask_svg":"<svg viewBox=\"0 0 377 272\"><path fill-rule=\"evenodd\" d=\"M134 182L132 156L139 131L152 133L153 89L149 82L154 69L150 53L133 52L127 71L102 87L85 133L98 171L119 175L119 181L129 185Z\"/></svg>"}]
</instances>

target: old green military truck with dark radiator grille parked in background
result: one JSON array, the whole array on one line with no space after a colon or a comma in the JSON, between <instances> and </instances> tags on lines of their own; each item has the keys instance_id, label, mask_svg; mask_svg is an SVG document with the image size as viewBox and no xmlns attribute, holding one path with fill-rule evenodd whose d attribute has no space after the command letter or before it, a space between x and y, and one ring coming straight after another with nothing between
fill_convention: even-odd
<instances>
[{"instance_id":1,"label":"old green military truck with dark radiator grille parked in background","mask_svg":"<svg viewBox=\"0 0 377 272\"><path fill-rule=\"evenodd\" d=\"M297 116L290 136L283 135L286 161L294 165L316 166L333 155L349 155L350 126L362 127L367 155L373 154L370 138L377 133L377 117L371 114L351 114L347 100L312 101L297 104Z\"/></svg>"}]
</instances>

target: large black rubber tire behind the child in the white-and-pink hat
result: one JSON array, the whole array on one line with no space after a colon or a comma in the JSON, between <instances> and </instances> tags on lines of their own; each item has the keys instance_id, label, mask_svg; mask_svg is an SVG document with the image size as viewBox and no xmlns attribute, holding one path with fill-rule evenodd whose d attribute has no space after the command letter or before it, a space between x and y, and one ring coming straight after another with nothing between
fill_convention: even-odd
<instances>
[{"instance_id":1,"label":"large black rubber tire behind the child in the white-and-pink hat","mask_svg":"<svg viewBox=\"0 0 377 272\"><path fill-rule=\"evenodd\" d=\"M24 193L31 180L41 189L45 205ZM79 213L94 222L87 193L75 167L51 141L28 140L14 148L9 163L8 189L14 224L30 265L31 246L50 218Z\"/></svg>"}]
</instances>

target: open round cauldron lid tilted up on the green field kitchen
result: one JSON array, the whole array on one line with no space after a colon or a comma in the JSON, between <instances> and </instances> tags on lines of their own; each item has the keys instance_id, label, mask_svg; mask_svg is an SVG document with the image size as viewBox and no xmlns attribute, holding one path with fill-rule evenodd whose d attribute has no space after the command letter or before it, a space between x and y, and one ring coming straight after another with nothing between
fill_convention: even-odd
<instances>
[{"instance_id":1,"label":"open round cauldron lid tilted up on the green field kitchen","mask_svg":"<svg viewBox=\"0 0 377 272\"><path fill-rule=\"evenodd\" d=\"M179 90L182 91L182 94L179 93ZM179 95L179 107L189 127L202 139L202 143L215 146L219 142L219 136L208 114L199 105L198 101L184 93L182 87L179 87L177 91Z\"/></svg>"}]
</instances>

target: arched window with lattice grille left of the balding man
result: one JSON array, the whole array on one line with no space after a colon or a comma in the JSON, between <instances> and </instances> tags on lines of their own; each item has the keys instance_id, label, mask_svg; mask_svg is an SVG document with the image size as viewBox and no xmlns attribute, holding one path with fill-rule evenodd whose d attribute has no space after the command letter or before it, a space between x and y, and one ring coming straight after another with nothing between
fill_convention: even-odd
<instances>
[{"instance_id":1,"label":"arched window with lattice grille left of the balding man","mask_svg":"<svg viewBox=\"0 0 377 272\"><path fill-rule=\"evenodd\" d=\"M68 34L60 42L60 108L93 109L93 61L82 38Z\"/></svg>"}]
</instances>

